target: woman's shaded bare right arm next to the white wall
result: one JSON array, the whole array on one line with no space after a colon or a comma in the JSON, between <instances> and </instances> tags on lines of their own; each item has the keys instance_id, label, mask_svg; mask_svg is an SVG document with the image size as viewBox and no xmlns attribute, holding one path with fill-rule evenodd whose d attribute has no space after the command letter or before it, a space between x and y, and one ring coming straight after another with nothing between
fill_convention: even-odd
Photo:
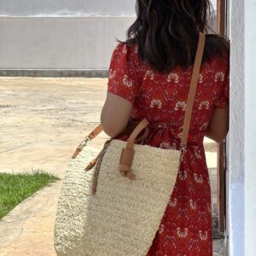
<instances>
[{"instance_id":1,"label":"woman's shaded bare right arm next to the white wall","mask_svg":"<svg viewBox=\"0 0 256 256\"><path fill-rule=\"evenodd\" d=\"M225 108L215 108L212 119L207 126L206 137L217 143L222 143L229 131L230 108L227 104Z\"/></svg>"}]
</instances>

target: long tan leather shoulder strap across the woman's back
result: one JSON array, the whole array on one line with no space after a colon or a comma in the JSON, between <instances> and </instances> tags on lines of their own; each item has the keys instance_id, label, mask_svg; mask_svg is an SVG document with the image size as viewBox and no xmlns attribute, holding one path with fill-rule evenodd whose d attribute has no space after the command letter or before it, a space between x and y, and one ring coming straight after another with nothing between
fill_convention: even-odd
<instances>
[{"instance_id":1,"label":"long tan leather shoulder strap across the woman's back","mask_svg":"<svg viewBox=\"0 0 256 256\"><path fill-rule=\"evenodd\" d=\"M197 52L195 55L195 64L194 64L192 79L189 87L189 96L188 96L186 113L184 116L184 123L183 123L183 135L181 139L181 143L183 145L186 145L188 142L190 120L191 120L192 109L193 109L194 100L195 100L195 91L198 84L199 73L201 69L201 61L202 61L202 55L204 52L205 41L206 41L205 34L202 32L199 32L199 42L197 46Z\"/></svg>"}]
</instances>

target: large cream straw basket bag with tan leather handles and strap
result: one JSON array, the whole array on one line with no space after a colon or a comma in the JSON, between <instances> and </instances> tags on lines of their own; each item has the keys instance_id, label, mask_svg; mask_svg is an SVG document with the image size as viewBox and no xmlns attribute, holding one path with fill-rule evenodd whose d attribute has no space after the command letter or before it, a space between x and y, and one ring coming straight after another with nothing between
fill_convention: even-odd
<instances>
[{"instance_id":1,"label":"large cream straw basket bag with tan leather handles and strap","mask_svg":"<svg viewBox=\"0 0 256 256\"><path fill-rule=\"evenodd\" d=\"M67 168L55 218L57 255L143 256L148 252L186 150L205 35L200 32L199 38L181 150L143 145L148 136L148 120L143 119L127 142L111 138L99 152L87 144L102 131L102 125L97 126Z\"/></svg>"}]
</instances>

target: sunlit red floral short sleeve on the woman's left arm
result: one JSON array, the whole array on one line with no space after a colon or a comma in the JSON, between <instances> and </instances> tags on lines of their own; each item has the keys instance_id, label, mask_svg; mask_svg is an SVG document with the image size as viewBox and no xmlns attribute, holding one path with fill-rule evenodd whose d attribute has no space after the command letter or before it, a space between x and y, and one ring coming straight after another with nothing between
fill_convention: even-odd
<instances>
[{"instance_id":1,"label":"sunlit red floral short sleeve on the woman's left arm","mask_svg":"<svg viewBox=\"0 0 256 256\"><path fill-rule=\"evenodd\" d=\"M119 43L111 57L108 71L108 91L133 104L137 96L137 61L133 47Z\"/></svg>"}]
</instances>

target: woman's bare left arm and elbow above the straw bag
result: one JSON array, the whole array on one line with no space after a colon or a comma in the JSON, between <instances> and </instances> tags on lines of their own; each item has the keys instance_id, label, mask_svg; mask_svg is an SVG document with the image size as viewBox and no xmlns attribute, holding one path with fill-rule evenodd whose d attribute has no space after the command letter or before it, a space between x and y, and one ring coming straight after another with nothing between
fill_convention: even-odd
<instances>
[{"instance_id":1,"label":"woman's bare left arm and elbow above the straw bag","mask_svg":"<svg viewBox=\"0 0 256 256\"><path fill-rule=\"evenodd\" d=\"M131 102L108 91L101 113L103 131L110 137L116 137L124 131L130 118L131 108Z\"/></svg>"}]
</instances>

